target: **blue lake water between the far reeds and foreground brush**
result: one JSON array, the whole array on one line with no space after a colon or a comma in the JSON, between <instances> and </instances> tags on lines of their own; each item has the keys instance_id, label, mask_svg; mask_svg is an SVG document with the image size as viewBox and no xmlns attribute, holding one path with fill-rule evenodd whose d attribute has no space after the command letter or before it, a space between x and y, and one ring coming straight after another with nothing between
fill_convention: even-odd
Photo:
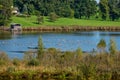
<instances>
[{"instance_id":1,"label":"blue lake water between the far reeds and foreground brush","mask_svg":"<svg viewBox=\"0 0 120 80\"><path fill-rule=\"evenodd\" d=\"M90 52L100 39L104 39L109 46L109 40L114 38L120 50L120 32L71 32L71 33L22 33L12 34L0 32L0 51L6 52L10 58L22 58L29 47L37 47L38 38L42 36L45 48L58 48L62 51L76 50L80 47L83 51ZM107 48L108 49L108 48ZM107 50L106 49L106 50Z\"/></svg>"}]
</instances>

